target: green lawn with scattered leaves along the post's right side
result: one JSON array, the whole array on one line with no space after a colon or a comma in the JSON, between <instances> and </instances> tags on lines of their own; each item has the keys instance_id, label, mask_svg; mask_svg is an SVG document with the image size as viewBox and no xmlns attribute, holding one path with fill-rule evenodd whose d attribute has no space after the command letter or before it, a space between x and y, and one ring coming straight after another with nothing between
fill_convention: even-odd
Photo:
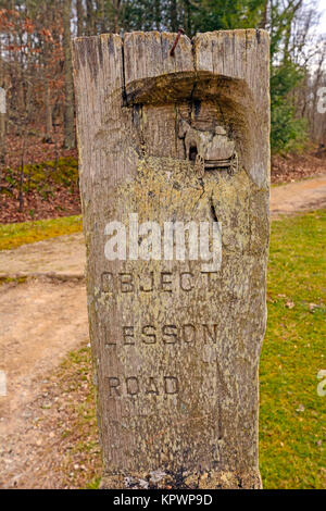
<instances>
[{"instance_id":1,"label":"green lawn with scattered leaves along the post's right side","mask_svg":"<svg viewBox=\"0 0 326 511\"><path fill-rule=\"evenodd\" d=\"M265 488L326 488L326 212L273 222L268 321L260 365Z\"/></svg>"}]
</instances>

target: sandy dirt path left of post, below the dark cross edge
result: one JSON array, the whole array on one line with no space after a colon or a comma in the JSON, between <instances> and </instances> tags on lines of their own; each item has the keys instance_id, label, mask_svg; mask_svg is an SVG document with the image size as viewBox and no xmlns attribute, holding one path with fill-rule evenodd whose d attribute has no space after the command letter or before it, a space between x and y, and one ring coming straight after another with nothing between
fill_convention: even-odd
<instances>
[{"instance_id":1,"label":"sandy dirt path left of post, below the dark cross edge","mask_svg":"<svg viewBox=\"0 0 326 511\"><path fill-rule=\"evenodd\" d=\"M40 410L30 404L43 396L43 381L60 361L88 342L85 285L38 279L1 286L0 332L0 370L7 377L7 396L0 396L0 487L14 487L26 471L30 487L38 487L33 470L42 453L36 460L34 452L53 443L54 433L35 427ZM47 406L46 396L42 400Z\"/></svg>"}]
</instances>

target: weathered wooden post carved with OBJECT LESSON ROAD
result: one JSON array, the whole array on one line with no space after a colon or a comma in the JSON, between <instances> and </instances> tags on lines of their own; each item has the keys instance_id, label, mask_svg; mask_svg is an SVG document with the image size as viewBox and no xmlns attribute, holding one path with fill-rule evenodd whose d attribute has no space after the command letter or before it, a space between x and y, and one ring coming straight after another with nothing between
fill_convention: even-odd
<instances>
[{"instance_id":1,"label":"weathered wooden post carved with OBJECT LESSON ROAD","mask_svg":"<svg viewBox=\"0 0 326 511\"><path fill-rule=\"evenodd\" d=\"M268 36L73 42L102 486L259 488Z\"/></svg>"}]
</instances>

